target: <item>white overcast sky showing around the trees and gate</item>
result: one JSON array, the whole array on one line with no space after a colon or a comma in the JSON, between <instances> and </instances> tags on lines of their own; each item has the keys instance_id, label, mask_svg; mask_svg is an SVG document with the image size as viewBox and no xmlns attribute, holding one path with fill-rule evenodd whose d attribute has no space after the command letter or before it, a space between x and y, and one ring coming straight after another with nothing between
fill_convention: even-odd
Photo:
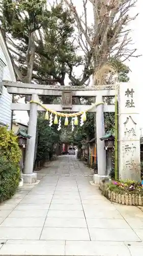
<instances>
[{"instance_id":1,"label":"white overcast sky showing around the trees and gate","mask_svg":"<svg viewBox=\"0 0 143 256\"><path fill-rule=\"evenodd\" d=\"M49 0L51 2L53 2L53 0ZM135 82L138 84L140 84L140 82L142 82L142 66L143 66L143 46L142 46L142 26L141 24L143 24L143 6L142 6L142 1L143 0L138 0L136 3L136 7L132 8L130 11L130 16L134 16L136 13L139 13L139 15L136 17L135 20L133 20L133 22L130 24L129 28L132 29L132 32L130 33L130 36L133 39L134 42L134 48L137 49L136 54L137 55L142 55L138 58L135 57L131 57L130 61L126 61L126 65L129 66L131 72L129 74L130 77L130 82ZM73 3L75 4L77 11L81 12L81 7L82 7L82 0L73 0ZM92 8L91 5L89 4L88 6L88 19L89 19L89 24L92 24L93 22L93 16L91 15L92 12ZM142 102L142 94L140 94L140 100ZM24 99L22 99L22 101L20 100L21 103L24 103ZM143 103L141 108L143 109ZM23 123L27 123L28 122L28 115L27 112L25 111L18 111L16 112L16 119L18 119L19 121L23 122ZM22 119L22 120L21 120ZM143 127L143 125L141 125Z\"/></svg>"}]
</instances>

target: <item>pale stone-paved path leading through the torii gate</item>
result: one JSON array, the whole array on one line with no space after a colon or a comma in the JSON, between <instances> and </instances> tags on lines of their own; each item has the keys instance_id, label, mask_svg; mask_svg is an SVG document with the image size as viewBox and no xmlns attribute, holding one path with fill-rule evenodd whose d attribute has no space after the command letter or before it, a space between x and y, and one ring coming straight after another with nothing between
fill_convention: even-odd
<instances>
[{"instance_id":1,"label":"pale stone-paved path leading through the torii gate","mask_svg":"<svg viewBox=\"0 0 143 256\"><path fill-rule=\"evenodd\" d=\"M62 156L0 205L0 255L142 256L143 209L110 203Z\"/></svg>"}]
</instances>

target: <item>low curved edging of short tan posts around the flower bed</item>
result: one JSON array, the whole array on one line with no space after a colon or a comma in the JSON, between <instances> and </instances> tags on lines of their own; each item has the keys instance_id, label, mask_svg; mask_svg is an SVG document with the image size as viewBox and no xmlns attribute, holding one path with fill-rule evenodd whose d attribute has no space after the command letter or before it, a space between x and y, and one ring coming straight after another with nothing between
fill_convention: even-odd
<instances>
[{"instance_id":1,"label":"low curved edging of short tan posts around the flower bed","mask_svg":"<svg viewBox=\"0 0 143 256\"><path fill-rule=\"evenodd\" d=\"M110 190L107 190L106 197L110 201L118 204L143 206L143 197L141 195L121 195Z\"/></svg>"}]
</instances>

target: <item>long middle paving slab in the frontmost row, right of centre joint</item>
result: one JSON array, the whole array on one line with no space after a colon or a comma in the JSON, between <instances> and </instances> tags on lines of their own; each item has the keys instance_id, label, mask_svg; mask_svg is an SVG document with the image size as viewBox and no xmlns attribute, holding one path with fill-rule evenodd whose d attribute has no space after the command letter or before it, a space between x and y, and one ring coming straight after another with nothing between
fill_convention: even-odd
<instances>
[{"instance_id":1,"label":"long middle paving slab in the frontmost row, right of centre joint","mask_svg":"<svg viewBox=\"0 0 143 256\"><path fill-rule=\"evenodd\" d=\"M67 256L131 256L122 242L66 241L65 253Z\"/></svg>"}]
</instances>

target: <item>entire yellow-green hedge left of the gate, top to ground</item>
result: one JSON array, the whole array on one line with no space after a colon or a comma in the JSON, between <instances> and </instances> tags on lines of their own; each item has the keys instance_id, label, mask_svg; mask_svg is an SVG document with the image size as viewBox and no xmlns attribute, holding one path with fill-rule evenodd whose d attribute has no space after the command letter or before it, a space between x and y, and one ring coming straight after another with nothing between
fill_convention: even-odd
<instances>
[{"instance_id":1,"label":"entire yellow-green hedge left of the gate, top to ground","mask_svg":"<svg viewBox=\"0 0 143 256\"><path fill-rule=\"evenodd\" d=\"M11 198L19 184L21 151L17 136L0 127L0 202Z\"/></svg>"}]
</instances>

